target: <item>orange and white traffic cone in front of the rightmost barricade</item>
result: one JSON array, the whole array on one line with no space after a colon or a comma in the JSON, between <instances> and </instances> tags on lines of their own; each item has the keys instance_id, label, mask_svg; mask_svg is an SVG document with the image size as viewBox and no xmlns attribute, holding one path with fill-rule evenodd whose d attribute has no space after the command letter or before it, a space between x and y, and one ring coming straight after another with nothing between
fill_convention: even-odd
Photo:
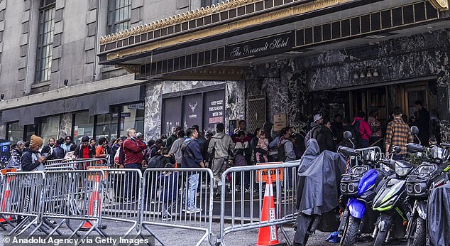
<instances>
[{"instance_id":1,"label":"orange and white traffic cone in front of the rightmost barricade","mask_svg":"<svg viewBox=\"0 0 450 246\"><path fill-rule=\"evenodd\" d=\"M268 176L268 181L265 183L265 192L263 200L263 208L261 209L261 222L276 220L275 203L273 201L273 184L272 178ZM278 245L277 226L271 225L265 228L259 228L258 241L256 245Z\"/></svg>"}]
</instances>

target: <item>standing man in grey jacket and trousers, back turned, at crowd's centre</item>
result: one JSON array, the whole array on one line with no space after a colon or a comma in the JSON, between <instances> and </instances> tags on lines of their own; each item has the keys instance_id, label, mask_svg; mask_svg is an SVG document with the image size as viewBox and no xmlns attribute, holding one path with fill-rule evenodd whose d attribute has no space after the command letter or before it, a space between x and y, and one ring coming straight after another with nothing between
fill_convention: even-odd
<instances>
[{"instance_id":1,"label":"standing man in grey jacket and trousers, back turned, at crowd's centre","mask_svg":"<svg viewBox=\"0 0 450 246\"><path fill-rule=\"evenodd\" d=\"M216 134L211 137L208 146L208 154L212 156L212 173L216 180L217 186L223 185L221 182L222 173L226 169L228 160L231 159L229 153L234 149L233 139L228 134L224 133L224 124L219 123L216 126ZM219 194L217 189L216 195Z\"/></svg>"}]
</instances>

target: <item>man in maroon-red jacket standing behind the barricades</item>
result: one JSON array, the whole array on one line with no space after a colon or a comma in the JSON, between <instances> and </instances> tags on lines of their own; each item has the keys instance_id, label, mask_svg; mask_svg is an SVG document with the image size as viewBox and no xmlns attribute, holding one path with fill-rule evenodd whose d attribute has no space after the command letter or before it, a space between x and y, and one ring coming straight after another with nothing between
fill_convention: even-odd
<instances>
[{"instance_id":1,"label":"man in maroon-red jacket standing behind the barricades","mask_svg":"<svg viewBox=\"0 0 450 246\"><path fill-rule=\"evenodd\" d=\"M147 149L147 144L143 141L136 139L136 129L130 128L126 130L128 136L122 143L124 154L119 156L119 168L121 169L142 169L142 163L144 159L143 151ZM122 158L121 158L122 157ZM137 197L135 194L136 183L134 178L127 178L127 188L125 191L124 203L133 203L133 198ZM135 196L136 195L136 196Z\"/></svg>"}]
</instances>

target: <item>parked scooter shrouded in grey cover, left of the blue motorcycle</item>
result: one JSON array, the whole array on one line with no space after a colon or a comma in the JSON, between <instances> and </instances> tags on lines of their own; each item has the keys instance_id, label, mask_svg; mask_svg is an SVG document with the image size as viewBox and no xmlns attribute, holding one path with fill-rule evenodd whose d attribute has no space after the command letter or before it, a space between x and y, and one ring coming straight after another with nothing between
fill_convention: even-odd
<instances>
[{"instance_id":1,"label":"parked scooter shrouded in grey cover, left of the blue motorcycle","mask_svg":"<svg viewBox=\"0 0 450 246\"><path fill-rule=\"evenodd\" d=\"M322 216L323 220L319 220L319 230L332 232L339 227L339 217L334 213L339 206L339 183L345 169L344 156L331 151L320 154L317 140L309 139L297 172L297 209L300 213L295 245L303 245L305 238L307 240L313 216L326 214Z\"/></svg>"}]
</instances>

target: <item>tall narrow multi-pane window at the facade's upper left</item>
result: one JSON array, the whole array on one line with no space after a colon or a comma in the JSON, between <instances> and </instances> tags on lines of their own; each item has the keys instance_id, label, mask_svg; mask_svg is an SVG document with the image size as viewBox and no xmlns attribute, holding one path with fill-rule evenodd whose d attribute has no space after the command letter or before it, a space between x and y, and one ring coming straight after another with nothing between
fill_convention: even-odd
<instances>
[{"instance_id":1,"label":"tall narrow multi-pane window at the facade's upper left","mask_svg":"<svg viewBox=\"0 0 450 246\"><path fill-rule=\"evenodd\" d=\"M52 71L53 31L55 30L55 0L40 2L36 82L50 80Z\"/></svg>"}]
</instances>

